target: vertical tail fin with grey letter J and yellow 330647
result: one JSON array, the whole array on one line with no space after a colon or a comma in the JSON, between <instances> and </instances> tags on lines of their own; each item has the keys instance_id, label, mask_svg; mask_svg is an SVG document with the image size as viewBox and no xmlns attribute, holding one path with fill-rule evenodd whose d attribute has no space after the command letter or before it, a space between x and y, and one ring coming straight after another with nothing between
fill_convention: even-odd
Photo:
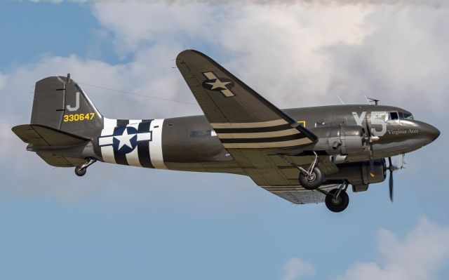
<instances>
[{"instance_id":1,"label":"vertical tail fin with grey letter J and yellow 330647","mask_svg":"<svg viewBox=\"0 0 449 280\"><path fill-rule=\"evenodd\" d=\"M90 138L102 116L69 75L49 76L36 82L31 124Z\"/></svg>"}]
</instances>

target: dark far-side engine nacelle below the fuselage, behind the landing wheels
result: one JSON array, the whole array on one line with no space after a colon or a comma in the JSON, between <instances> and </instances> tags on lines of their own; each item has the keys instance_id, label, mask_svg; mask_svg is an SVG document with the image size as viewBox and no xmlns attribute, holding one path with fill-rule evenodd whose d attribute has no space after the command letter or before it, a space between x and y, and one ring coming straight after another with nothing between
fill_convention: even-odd
<instances>
[{"instance_id":1,"label":"dark far-side engine nacelle below the fuselage, behind the landing wheels","mask_svg":"<svg viewBox=\"0 0 449 280\"><path fill-rule=\"evenodd\" d=\"M387 164L385 159L377 159L374 164L374 176L370 175L370 162L363 161L351 164L339 164L340 171L334 174L326 175L328 182L347 181L351 185L366 185L384 182L387 178ZM362 188L359 190L362 191Z\"/></svg>"}]
</instances>

